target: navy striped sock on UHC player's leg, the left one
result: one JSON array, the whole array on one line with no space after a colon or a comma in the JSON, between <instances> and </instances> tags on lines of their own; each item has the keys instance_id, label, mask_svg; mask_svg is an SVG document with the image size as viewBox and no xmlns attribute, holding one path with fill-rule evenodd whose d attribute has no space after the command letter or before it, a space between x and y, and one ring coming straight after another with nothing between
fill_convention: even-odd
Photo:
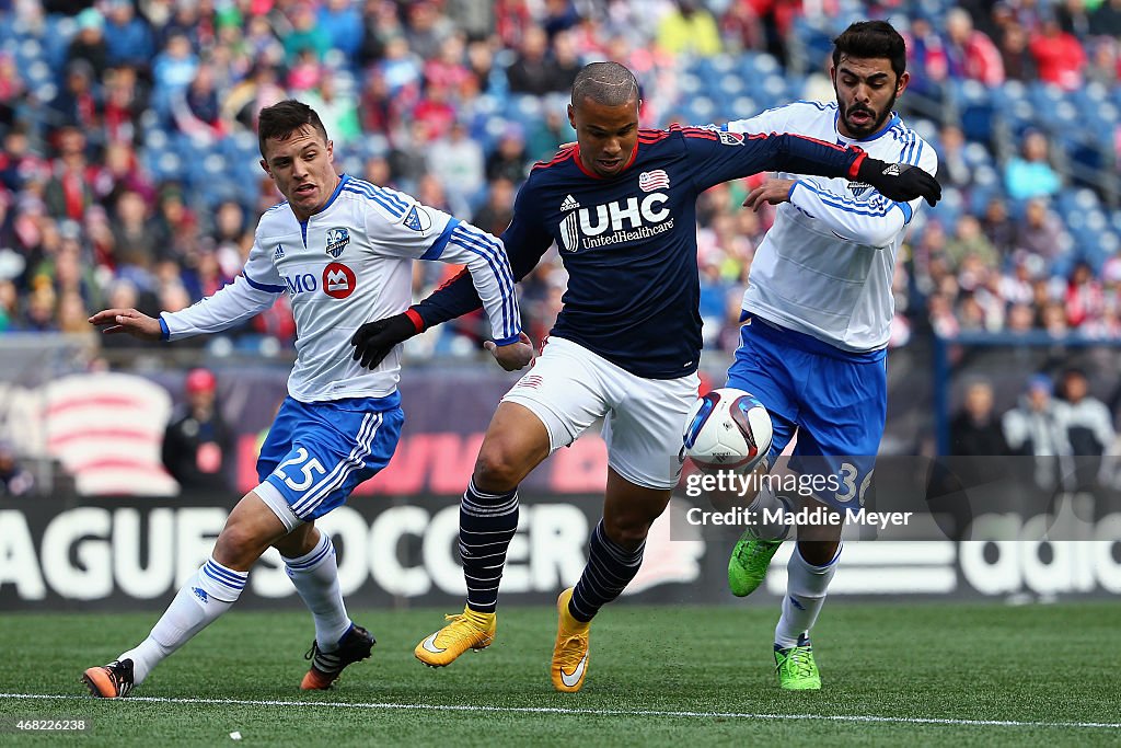
<instances>
[{"instance_id":1,"label":"navy striped sock on UHC player's leg, the left one","mask_svg":"<svg viewBox=\"0 0 1121 748\"><path fill-rule=\"evenodd\" d=\"M487 493L467 486L460 501L460 557L467 582L467 606L492 613L506 565L506 551L518 529L518 489Z\"/></svg>"}]
</instances>

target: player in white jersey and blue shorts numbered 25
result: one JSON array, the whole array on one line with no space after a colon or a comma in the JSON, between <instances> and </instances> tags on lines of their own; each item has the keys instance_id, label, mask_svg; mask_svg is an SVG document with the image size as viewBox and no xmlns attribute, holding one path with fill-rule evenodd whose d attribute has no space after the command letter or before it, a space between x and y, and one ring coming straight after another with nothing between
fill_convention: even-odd
<instances>
[{"instance_id":1,"label":"player in white jersey and blue shorts numbered 25","mask_svg":"<svg viewBox=\"0 0 1121 748\"><path fill-rule=\"evenodd\" d=\"M499 363L532 358L513 277L494 237L392 190L339 175L331 140L307 104L261 110L261 167L287 198L260 219L244 271L213 296L158 318L114 308L90 317L105 333L180 340L217 332L291 297L298 339L288 397L261 446L260 484L230 512L210 558L179 589L147 639L83 680L95 696L127 695L160 661L229 610L253 563L276 547L315 620L300 687L328 687L370 656L373 637L346 615L331 538L315 520L388 464L404 413L400 350L373 369L350 357L363 322L411 301L414 259L466 265L483 298Z\"/></svg>"}]
</instances>

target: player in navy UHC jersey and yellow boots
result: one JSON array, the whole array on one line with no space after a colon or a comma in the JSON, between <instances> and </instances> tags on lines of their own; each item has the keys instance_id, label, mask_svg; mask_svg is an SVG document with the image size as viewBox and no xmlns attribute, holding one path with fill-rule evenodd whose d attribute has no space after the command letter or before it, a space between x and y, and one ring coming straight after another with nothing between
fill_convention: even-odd
<instances>
[{"instance_id":1,"label":"player in navy UHC jersey and yellow boots","mask_svg":"<svg viewBox=\"0 0 1121 748\"><path fill-rule=\"evenodd\" d=\"M695 203L708 187L757 172L847 176L898 200L939 196L919 169L790 135L704 128L639 129L639 90L618 63L593 63L573 84L577 144L538 164L503 233L518 278L556 243L568 270L564 310L534 369L503 397L460 507L463 613L417 645L443 666L495 632L498 587L518 526L518 484L600 417L609 470L603 519L575 588L557 600L552 680L578 691L592 617L633 579L654 520L680 474L677 451L696 399L701 358ZM404 314L363 325L354 358L376 366L402 340L479 307L466 278Z\"/></svg>"}]
</instances>

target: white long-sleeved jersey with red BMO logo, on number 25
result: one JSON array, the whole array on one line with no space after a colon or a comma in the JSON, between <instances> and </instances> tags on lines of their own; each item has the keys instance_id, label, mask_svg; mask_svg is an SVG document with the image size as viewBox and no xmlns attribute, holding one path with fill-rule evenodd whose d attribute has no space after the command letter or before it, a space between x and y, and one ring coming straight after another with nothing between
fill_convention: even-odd
<instances>
[{"instance_id":1,"label":"white long-sleeved jersey with red BMO logo, on number 25","mask_svg":"<svg viewBox=\"0 0 1121 748\"><path fill-rule=\"evenodd\" d=\"M288 203L257 225L242 275L194 306L160 315L165 338L232 327L291 297L296 366L288 393L304 403L385 397L397 389L400 347L373 371L351 357L351 336L413 301L413 260L466 265L494 340L521 332L513 276L502 242L409 195L342 176L327 205L300 223Z\"/></svg>"}]
</instances>

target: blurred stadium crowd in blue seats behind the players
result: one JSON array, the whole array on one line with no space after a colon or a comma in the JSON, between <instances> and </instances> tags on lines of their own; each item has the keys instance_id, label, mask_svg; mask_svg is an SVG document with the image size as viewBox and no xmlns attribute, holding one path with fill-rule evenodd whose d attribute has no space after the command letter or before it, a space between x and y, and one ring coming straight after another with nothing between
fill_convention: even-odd
<instances>
[{"instance_id":1,"label":"blurred stadium crowd in blue seats behind the players","mask_svg":"<svg viewBox=\"0 0 1121 748\"><path fill-rule=\"evenodd\" d=\"M720 122L832 100L823 50L864 16L906 29L899 104L946 187L898 266L895 342L1121 335L1121 0L0 0L0 330L90 333L98 308L228 283L278 200L253 127L280 99L319 111L341 168L500 233L531 164L573 139L585 62L638 73L645 124ZM740 207L749 190L698 205L710 348L735 344L771 220ZM522 287L535 336L565 286L546 257ZM417 294L446 273L419 264ZM478 330L428 344L471 350ZM281 303L235 338L294 332Z\"/></svg>"}]
</instances>

